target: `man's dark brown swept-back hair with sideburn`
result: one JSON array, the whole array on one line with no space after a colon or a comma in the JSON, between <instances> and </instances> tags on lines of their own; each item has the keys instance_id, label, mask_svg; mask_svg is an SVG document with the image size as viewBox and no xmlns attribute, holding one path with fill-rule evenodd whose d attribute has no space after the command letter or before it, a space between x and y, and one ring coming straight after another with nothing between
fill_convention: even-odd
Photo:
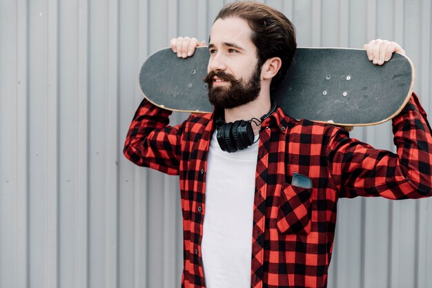
<instances>
[{"instance_id":1,"label":"man's dark brown swept-back hair with sideburn","mask_svg":"<svg viewBox=\"0 0 432 288\"><path fill-rule=\"evenodd\" d=\"M251 40L257 48L259 67L272 57L282 60L279 72L271 81L271 88L274 89L284 78L297 48L293 23L282 12L254 1L227 4L219 11L215 21L229 17L244 19L251 27Z\"/></svg>"}]
</instances>

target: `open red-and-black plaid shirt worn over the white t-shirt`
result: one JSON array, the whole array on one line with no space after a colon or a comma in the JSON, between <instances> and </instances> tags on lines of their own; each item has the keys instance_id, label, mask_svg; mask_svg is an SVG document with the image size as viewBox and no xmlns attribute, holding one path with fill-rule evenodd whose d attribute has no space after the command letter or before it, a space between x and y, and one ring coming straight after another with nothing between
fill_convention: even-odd
<instances>
[{"instance_id":1,"label":"open red-and-black plaid shirt worn over the white t-shirt","mask_svg":"<svg viewBox=\"0 0 432 288\"><path fill-rule=\"evenodd\" d=\"M206 160L213 114L168 125L169 111L146 100L124 154L140 166L179 175L184 227L182 287L205 287L202 233ZM255 173L251 287L326 287L341 197L431 195L432 137L415 94L393 119L397 154L351 139L346 130L297 121L279 108L263 123ZM293 173L312 188L292 186Z\"/></svg>"}]
</instances>

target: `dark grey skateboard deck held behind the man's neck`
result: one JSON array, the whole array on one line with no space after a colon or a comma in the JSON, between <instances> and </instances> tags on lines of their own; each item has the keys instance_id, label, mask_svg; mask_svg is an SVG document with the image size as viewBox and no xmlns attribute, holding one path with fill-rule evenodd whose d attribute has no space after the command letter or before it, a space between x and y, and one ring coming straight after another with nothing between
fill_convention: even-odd
<instances>
[{"instance_id":1,"label":"dark grey skateboard deck held behind the man's neck","mask_svg":"<svg viewBox=\"0 0 432 288\"><path fill-rule=\"evenodd\" d=\"M139 72L139 86L153 104L172 111L208 113L208 48L178 58L165 48L150 55ZM398 53L375 66L366 50L297 48L284 80L272 93L289 116L340 126L380 124L395 117L409 101L415 70Z\"/></svg>"}]
</instances>

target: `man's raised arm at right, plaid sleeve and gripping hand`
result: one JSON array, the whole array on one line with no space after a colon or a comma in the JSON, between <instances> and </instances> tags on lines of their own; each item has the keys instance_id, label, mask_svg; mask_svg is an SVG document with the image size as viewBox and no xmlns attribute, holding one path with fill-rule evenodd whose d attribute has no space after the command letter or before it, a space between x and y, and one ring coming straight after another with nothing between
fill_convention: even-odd
<instances>
[{"instance_id":1,"label":"man's raised arm at right, plaid sleeve and gripping hand","mask_svg":"<svg viewBox=\"0 0 432 288\"><path fill-rule=\"evenodd\" d=\"M405 54L399 45L380 39L364 48L369 60L377 65L389 61L393 52ZM431 127L414 93L393 118L393 134L397 154L351 139L345 131L335 133L328 159L341 197L405 199L432 195Z\"/></svg>"}]
</instances>

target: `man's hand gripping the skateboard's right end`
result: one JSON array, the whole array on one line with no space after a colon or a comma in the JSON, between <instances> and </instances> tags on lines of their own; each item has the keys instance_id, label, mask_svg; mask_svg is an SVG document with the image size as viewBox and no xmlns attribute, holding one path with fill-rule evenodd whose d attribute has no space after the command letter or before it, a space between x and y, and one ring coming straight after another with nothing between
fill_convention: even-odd
<instances>
[{"instance_id":1,"label":"man's hand gripping the skateboard's right end","mask_svg":"<svg viewBox=\"0 0 432 288\"><path fill-rule=\"evenodd\" d=\"M396 42L376 39L364 44L369 60L375 65L382 65L389 61L394 52L405 55L404 49Z\"/></svg>"}]
</instances>

